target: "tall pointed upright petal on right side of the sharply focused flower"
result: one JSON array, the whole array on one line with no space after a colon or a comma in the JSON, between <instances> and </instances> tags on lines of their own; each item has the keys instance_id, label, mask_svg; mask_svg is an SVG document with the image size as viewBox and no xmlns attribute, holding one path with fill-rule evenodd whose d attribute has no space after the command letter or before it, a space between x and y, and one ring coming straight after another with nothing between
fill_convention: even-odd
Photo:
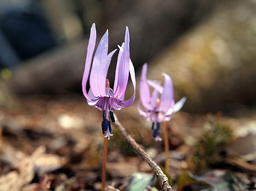
<instances>
[{"instance_id":1,"label":"tall pointed upright petal on right side of the sharply focused flower","mask_svg":"<svg viewBox=\"0 0 256 191\"><path fill-rule=\"evenodd\" d=\"M129 50L129 30L126 27L125 38L124 38L124 50L122 51L120 62L117 63L118 75L115 76L116 87L114 86L114 97L121 98L126 90L128 77L129 77L129 63L130 63L130 50ZM121 49L120 49L121 51Z\"/></svg>"}]
</instances>

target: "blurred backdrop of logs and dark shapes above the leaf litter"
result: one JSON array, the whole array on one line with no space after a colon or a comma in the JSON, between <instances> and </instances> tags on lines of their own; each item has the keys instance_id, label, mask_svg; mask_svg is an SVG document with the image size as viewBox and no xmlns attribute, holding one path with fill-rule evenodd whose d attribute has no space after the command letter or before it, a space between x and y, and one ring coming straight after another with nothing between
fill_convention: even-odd
<instances>
[{"instance_id":1,"label":"blurred backdrop of logs and dark shapes above the leaf litter","mask_svg":"<svg viewBox=\"0 0 256 191\"><path fill-rule=\"evenodd\" d=\"M127 25L137 76L145 62L150 79L168 73L186 111L244 112L256 105L255 9L254 0L1 0L1 81L16 95L81 93L92 23L97 41L109 29L109 51Z\"/></svg>"}]
</instances>

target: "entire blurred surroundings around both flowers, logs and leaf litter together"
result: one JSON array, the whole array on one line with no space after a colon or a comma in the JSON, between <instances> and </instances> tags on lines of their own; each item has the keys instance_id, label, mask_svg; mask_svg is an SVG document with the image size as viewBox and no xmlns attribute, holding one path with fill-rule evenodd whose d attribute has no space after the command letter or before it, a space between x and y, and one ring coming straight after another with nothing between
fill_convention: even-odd
<instances>
[{"instance_id":1,"label":"entire blurred surroundings around both flowers, logs and leaf litter together","mask_svg":"<svg viewBox=\"0 0 256 191\"><path fill-rule=\"evenodd\" d=\"M159 165L163 143L137 112L142 65L149 79L172 77L175 101L187 97L168 122L169 181L221 168L207 178L240 170L255 188L256 0L0 0L0 190L100 189L102 113L81 88L94 22L97 43L109 30L109 52L129 28L137 94L116 115ZM130 81L127 99L132 93ZM124 190L132 173L152 170L112 132L107 185Z\"/></svg>"}]
</instances>

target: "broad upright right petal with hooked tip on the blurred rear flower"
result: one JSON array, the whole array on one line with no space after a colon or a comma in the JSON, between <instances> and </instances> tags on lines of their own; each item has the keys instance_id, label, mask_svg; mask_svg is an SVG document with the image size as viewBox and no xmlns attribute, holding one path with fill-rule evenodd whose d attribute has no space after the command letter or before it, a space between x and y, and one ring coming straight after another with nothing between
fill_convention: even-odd
<instances>
[{"instance_id":1,"label":"broad upright right petal with hooked tip on the blurred rear flower","mask_svg":"<svg viewBox=\"0 0 256 191\"><path fill-rule=\"evenodd\" d=\"M163 73L164 76L164 85L163 85L163 93L160 98L159 111L167 112L174 105L173 99L173 86L172 79L166 73Z\"/></svg>"}]
</instances>

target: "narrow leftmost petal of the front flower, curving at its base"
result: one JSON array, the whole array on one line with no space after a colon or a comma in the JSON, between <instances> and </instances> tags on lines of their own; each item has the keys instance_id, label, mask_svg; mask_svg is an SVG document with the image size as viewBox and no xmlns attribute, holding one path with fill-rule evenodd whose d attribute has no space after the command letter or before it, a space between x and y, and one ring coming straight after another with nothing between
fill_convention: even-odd
<instances>
[{"instance_id":1,"label":"narrow leftmost petal of the front flower, curving at its base","mask_svg":"<svg viewBox=\"0 0 256 191\"><path fill-rule=\"evenodd\" d=\"M85 60L85 66L84 66L84 75L82 80L83 93L85 98L87 98L88 100L91 100L91 98L88 96L86 92L86 84L89 76L89 71L91 68L95 43L96 43L96 27L95 27L95 23L93 23L91 27L91 33L90 33L90 38L89 38L88 47L87 47L87 54L86 54L86 60Z\"/></svg>"}]
</instances>

